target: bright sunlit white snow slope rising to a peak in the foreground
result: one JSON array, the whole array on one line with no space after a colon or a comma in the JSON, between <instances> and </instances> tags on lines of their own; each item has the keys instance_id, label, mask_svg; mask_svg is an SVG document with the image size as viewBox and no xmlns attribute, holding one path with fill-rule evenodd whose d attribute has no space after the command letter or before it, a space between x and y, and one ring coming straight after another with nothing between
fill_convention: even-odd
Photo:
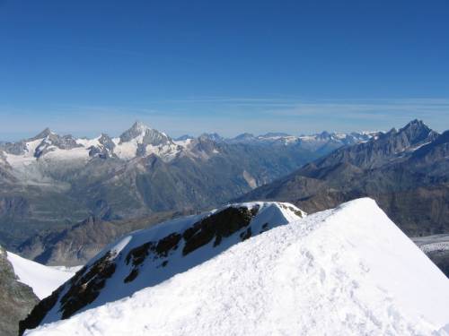
<instances>
[{"instance_id":1,"label":"bright sunlit white snow slope rising to a peak in the foreground","mask_svg":"<svg viewBox=\"0 0 449 336\"><path fill-rule=\"evenodd\" d=\"M359 199L27 335L447 335L448 302L445 275Z\"/></svg>"}]
</instances>

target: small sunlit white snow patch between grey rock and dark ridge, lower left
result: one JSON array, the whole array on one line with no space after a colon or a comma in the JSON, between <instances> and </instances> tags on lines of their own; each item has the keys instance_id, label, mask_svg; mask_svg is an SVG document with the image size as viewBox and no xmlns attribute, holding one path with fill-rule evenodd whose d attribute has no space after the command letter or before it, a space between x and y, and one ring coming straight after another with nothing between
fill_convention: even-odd
<instances>
[{"instance_id":1,"label":"small sunlit white snow patch between grey rock and dark ridge, lower left","mask_svg":"<svg viewBox=\"0 0 449 336\"><path fill-rule=\"evenodd\" d=\"M40 299L48 297L53 290L72 278L76 270L58 270L56 267L35 263L11 252L7 252L7 256L19 281L30 286Z\"/></svg>"}]
</instances>

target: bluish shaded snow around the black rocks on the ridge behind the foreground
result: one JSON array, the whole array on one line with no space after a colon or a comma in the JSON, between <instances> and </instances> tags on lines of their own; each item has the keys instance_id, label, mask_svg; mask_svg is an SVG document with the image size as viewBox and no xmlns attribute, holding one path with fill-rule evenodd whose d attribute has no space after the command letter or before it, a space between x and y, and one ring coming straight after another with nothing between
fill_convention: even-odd
<instances>
[{"instance_id":1,"label":"bluish shaded snow around the black rocks on the ridge behind the foreground","mask_svg":"<svg viewBox=\"0 0 449 336\"><path fill-rule=\"evenodd\" d=\"M95 300L84 306L81 311L101 306L115 301L123 297L128 297L140 289L145 289L150 286L155 286L164 280L170 279L173 275L182 271L188 271L190 268L197 266L199 263L213 258L217 254L222 253L225 249L239 243L242 240L242 234L246 232L247 227L235 231L230 237L223 237L221 243L216 246L214 240L211 240L204 246L191 253L184 255L183 247L184 241L181 240L180 246L175 250L169 252L164 257L154 257L152 254L145 256L145 263L142 263L136 268L133 263L128 263L128 254L135 248L143 246L148 242L157 242L163 237L167 237L172 233L182 234L186 229L191 228L192 225L201 219L205 219L214 214L220 213L228 208L257 208L259 211L257 215L251 219L248 227L251 227L252 235L257 235L261 231L269 228L274 228L279 225L286 225L293 220L298 220L299 216L305 216L304 211L300 211L294 205L282 202L247 202L226 205L223 208L208 211L206 213L181 218L178 220L170 220L159 224L156 227L138 230L126 237L122 237L115 243L106 246L96 257L92 258L86 264L84 274L88 273L92 265L101 259L105 254L110 254L108 258L110 261L116 263L116 268L107 280L106 286L101 289L101 293ZM299 214L299 216L298 216ZM164 263L164 264L163 264ZM130 282L124 281L133 269L138 269L138 276L135 280ZM66 284L66 288L62 291L59 299L63 297L71 288L71 283ZM61 319L60 301L54 306L45 316L42 323L51 323Z\"/></svg>"}]
</instances>

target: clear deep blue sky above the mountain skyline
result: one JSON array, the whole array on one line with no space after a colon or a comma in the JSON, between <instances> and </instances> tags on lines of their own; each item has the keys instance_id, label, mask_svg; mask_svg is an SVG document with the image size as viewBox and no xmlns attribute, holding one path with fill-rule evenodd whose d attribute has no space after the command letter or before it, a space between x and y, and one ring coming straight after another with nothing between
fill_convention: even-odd
<instances>
[{"instance_id":1,"label":"clear deep blue sky above the mountain skyline","mask_svg":"<svg viewBox=\"0 0 449 336\"><path fill-rule=\"evenodd\" d=\"M449 128L449 3L0 0L0 138Z\"/></svg>"}]
</instances>

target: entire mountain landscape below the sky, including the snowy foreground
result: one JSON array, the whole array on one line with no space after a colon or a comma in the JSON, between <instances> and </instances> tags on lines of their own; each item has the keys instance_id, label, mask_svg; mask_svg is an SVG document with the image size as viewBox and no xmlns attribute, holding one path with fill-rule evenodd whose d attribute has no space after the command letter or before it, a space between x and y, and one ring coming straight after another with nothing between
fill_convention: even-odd
<instances>
[{"instance_id":1,"label":"entire mountain landscape below the sky, including the snowy foreground","mask_svg":"<svg viewBox=\"0 0 449 336\"><path fill-rule=\"evenodd\" d=\"M448 134L2 142L0 332L448 335Z\"/></svg>"}]
</instances>

